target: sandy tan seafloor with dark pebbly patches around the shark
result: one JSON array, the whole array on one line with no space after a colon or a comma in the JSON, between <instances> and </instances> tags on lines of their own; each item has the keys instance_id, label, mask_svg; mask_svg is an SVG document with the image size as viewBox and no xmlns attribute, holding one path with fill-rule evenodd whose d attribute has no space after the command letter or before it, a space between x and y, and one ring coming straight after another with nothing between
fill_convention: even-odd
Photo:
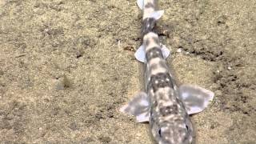
<instances>
[{"instance_id":1,"label":"sandy tan seafloor with dark pebbly patches around the shark","mask_svg":"<svg viewBox=\"0 0 256 144\"><path fill-rule=\"evenodd\" d=\"M197 143L256 143L256 1L159 7L177 81L216 95ZM0 143L153 143L118 112L143 90L141 26L134 0L0 0Z\"/></svg>"}]
</instances>

